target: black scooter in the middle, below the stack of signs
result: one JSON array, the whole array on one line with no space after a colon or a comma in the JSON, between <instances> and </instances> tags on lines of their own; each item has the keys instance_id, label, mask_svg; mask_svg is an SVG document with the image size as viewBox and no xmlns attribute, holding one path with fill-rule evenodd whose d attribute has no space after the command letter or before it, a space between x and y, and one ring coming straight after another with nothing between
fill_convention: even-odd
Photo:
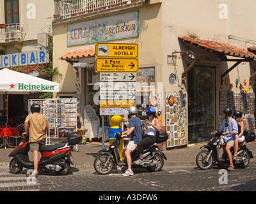
<instances>
[{"instance_id":1,"label":"black scooter in the middle, below the stack of signs","mask_svg":"<svg viewBox=\"0 0 256 204\"><path fill-rule=\"evenodd\" d=\"M115 133L116 139L109 145L108 149L102 149L99 152L102 153L97 156L93 162L93 167L97 173L101 175L106 175L111 173L114 166L127 166L125 161L120 160L119 156L119 145L121 140L121 133ZM166 156L164 153L157 147L157 143L165 142L168 139L168 133L166 131L159 131L157 134L157 140L150 147L144 149L144 159L143 165L135 164L134 161L140 158L137 150L134 150L131 154L132 157L132 168L147 168L150 172L160 171L164 165L164 159Z\"/></svg>"}]
</instances>

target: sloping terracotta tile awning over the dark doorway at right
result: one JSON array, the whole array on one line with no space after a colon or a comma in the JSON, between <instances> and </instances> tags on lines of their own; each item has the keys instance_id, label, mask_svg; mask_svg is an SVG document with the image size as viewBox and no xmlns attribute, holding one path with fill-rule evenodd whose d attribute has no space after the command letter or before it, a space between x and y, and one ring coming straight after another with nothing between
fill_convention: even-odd
<instances>
[{"instance_id":1,"label":"sloping terracotta tile awning over the dark doorway at right","mask_svg":"<svg viewBox=\"0 0 256 204\"><path fill-rule=\"evenodd\" d=\"M256 59L256 55L252 52L248 52L242 48L238 48L227 43L221 43L218 41L211 40L201 40L201 39L193 39L187 36L178 37L182 41L186 41L191 45L199 46L202 48L206 48L208 50L212 50L214 52L218 52L220 54L230 55L234 57L244 57Z\"/></svg>"}]
</instances>

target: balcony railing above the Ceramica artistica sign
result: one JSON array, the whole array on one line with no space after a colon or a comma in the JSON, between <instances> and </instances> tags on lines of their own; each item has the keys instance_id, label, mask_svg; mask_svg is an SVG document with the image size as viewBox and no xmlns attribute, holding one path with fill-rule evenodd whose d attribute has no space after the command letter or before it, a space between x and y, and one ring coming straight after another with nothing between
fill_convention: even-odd
<instances>
[{"instance_id":1,"label":"balcony railing above the Ceramica artistica sign","mask_svg":"<svg viewBox=\"0 0 256 204\"><path fill-rule=\"evenodd\" d=\"M145 2L145 0L60 0L58 4L60 18L69 18L85 13L105 10L116 6L131 4L136 2Z\"/></svg>"}]
</instances>

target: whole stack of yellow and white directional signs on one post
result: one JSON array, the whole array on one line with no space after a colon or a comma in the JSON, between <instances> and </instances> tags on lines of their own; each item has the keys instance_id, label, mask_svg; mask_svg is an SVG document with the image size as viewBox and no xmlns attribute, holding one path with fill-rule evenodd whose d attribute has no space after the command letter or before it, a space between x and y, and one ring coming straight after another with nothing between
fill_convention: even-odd
<instances>
[{"instance_id":1,"label":"whole stack of yellow and white directional signs on one post","mask_svg":"<svg viewBox=\"0 0 256 204\"><path fill-rule=\"evenodd\" d=\"M136 105L135 73L138 44L96 43L96 72L100 73L100 115L128 115Z\"/></svg>"}]
</instances>

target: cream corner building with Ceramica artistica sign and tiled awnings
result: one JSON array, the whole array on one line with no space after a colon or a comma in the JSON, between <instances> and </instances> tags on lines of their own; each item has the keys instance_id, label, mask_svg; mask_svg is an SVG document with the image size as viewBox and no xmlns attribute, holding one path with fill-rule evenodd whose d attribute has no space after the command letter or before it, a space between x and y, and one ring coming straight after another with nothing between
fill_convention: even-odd
<instances>
[{"instance_id":1,"label":"cream corner building with Ceramica artistica sign and tiled awnings","mask_svg":"<svg viewBox=\"0 0 256 204\"><path fill-rule=\"evenodd\" d=\"M154 106L170 138L167 147L204 142L223 108L241 110L255 129L255 28L248 0L54 1L53 67L58 97L77 94L97 115L100 92L96 43L138 44L134 96L141 119ZM252 22L250 22L252 21ZM254 51L255 52L255 51ZM74 66L83 63L85 66Z\"/></svg>"}]
</instances>

